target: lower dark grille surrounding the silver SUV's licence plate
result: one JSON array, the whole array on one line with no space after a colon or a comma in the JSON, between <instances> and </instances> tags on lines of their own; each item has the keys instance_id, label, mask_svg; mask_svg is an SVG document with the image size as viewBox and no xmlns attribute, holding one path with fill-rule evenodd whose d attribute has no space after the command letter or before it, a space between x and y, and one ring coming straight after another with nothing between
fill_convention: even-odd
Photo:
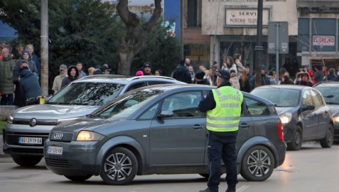
<instances>
[{"instance_id":1,"label":"lower dark grille surrounding the silver SUV's licence plate","mask_svg":"<svg viewBox=\"0 0 339 192\"><path fill-rule=\"evenodd\" d=\"M31 138L42 138L41 144L22 144L19 143L19 137L31 137ZM44 142L47 140L49 134L39 133L23 133L23 132L8 132L3 135L4 140L8 145L20 145L20 146L44 146Z\"/></svg>"}]
</instances>

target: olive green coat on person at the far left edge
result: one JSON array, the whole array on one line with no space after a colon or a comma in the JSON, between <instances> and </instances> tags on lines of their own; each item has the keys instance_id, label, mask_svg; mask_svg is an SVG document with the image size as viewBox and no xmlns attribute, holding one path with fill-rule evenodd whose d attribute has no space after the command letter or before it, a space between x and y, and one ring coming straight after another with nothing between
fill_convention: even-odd
<instances>
[{"instance_id":1,"label":"olive green coat on person at the far left edge","mask_svg":"<svg viewBox=\"0 0 339 192\"><path fill-rule=\"evenodd\" d=\"M14 93L14 84L13 84L13 70L14 70L14 61L12 58L3 58L0 61L0 93L2 95L13 94Z\"/></svg>"}]
</instances>

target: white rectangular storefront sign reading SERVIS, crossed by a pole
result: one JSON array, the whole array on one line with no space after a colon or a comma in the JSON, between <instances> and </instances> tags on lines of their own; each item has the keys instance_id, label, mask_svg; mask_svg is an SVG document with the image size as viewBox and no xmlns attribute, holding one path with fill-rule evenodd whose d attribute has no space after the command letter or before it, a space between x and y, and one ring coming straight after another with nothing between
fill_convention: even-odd
<instances>
[{"instance_id":1,"label":"white rectangular storefront sign reading SERVIS, crossed by a pole","mask_svg":"<svg viewBox=\"0 0 339 192\"><path fill-rule=\"evenodd\" d=\"M256 8L225 8L226 26L256 26L258 10ZM268 25L270 9L263 9L263 26Z\"/></svg>"}]
</instances>

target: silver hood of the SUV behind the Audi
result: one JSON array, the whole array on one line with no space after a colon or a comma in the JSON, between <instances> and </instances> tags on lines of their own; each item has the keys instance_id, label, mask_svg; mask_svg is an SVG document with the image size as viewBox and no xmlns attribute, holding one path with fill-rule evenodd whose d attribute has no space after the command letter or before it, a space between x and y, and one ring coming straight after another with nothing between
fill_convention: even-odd
<instances>
[{"instance_id":1,"label":"silver hood of the SUV behind the Audi","mask_svg":"<svg viewBox=\"0 0 339 192\"><path fill-rule=\"evenodd\" d=\"M19 119L62 120L88 115L97 108L99 106L36 104L17 109L12 113L12 117Z\"/></svg>"}]
</instances>

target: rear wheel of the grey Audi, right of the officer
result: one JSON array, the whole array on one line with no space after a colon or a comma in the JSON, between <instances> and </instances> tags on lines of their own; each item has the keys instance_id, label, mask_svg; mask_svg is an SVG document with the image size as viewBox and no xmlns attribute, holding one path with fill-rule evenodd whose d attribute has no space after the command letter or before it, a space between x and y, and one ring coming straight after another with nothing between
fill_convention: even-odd
<instances>
[{"instance_id":1,"label":"rear wheel of the grey Audi, right of the officer","mask_svg":"<svg viewBox=\"0 0 339 192\"><path fill-rule=\"evenodd\" d=\"M270 149L256 145L242 157L240 175L251 182L263 182L272 175L274 162Z\"/></svg>"}]
</instances>

